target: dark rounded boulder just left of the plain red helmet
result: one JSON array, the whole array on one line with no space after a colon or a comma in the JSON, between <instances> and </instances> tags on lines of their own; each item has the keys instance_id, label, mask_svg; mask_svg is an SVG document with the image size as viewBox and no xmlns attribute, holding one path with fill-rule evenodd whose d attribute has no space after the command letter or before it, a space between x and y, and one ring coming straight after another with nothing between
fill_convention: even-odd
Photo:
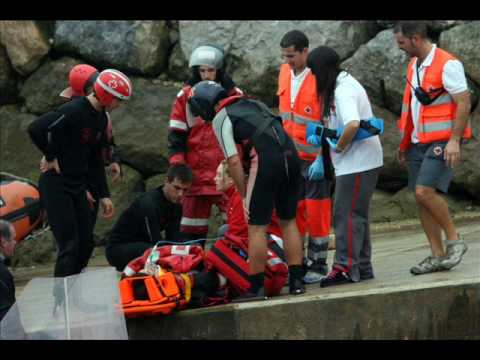
<instances>
[{"instance_id":1,"label":"dark rounded boulder just left of the plain red helmet","mask_svg":"<svg viewBox=\"0 0 480 360\"><path fill-rule=\"evenodd\" d=\"M26 81L20 96L25 99L29 112L43 114L54 110L64 103L59 94L68 86L68 73L79 60L63 57L59 60L48 60Z\"/></svg>"}]
</instances>

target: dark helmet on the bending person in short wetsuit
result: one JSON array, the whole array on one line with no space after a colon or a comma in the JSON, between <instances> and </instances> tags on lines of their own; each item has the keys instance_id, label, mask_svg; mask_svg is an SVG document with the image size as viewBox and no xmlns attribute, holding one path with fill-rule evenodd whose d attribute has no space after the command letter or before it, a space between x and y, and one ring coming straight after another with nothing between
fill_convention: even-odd
<instances>
[{"instance_id":1,"label":"dark helmet on the bending person in short wetsuit","mask_svg":"<svg viewBox=\"0 0 480 360\"><path fill-rule=\"evenodd\" d=\"M194 116L212 121L215 117L215 105L227 96L227 91L215 81L200 81L192 88L192 94L188 99L190 111Z\"/></svg>"}]
</instances>

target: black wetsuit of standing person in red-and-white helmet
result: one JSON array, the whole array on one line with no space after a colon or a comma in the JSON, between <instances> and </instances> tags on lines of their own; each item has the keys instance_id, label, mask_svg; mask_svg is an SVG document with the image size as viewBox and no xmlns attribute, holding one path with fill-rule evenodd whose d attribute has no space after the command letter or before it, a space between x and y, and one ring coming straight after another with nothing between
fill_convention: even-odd
<instances>
[{"instance_id":1,"label":"black wetsuit of standing person in red-and-white helmet","mask_svg":"<svg viewBox=\"0 0 480 360\"><path fill-rule=\"evenodd\" d=\"M106 144L107 116L87 98L77 98L37 118L28 128L47 161L57 159L60 174L40 176L42 205L58 248L54 275L78 274L93 251L92 211L86 189L95 185L100 198L110 197L101 154Z\"/></svg>"}]
</instances>

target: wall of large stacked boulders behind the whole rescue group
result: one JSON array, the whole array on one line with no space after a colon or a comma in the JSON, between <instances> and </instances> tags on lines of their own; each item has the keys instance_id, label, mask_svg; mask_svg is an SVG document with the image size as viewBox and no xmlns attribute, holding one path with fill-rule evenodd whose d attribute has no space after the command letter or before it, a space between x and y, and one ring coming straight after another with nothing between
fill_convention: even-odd
<instances>
[{"instance_id":1,"label":"wall of large stacked boulders behind the whole rescue group","mask_svg":"<svg viewBox=\"0 0 480 360\"><path fill-rule=\"evenodd\" d=\"M392 25L385 21L0 21L0 169L37 180L41 155L26 126L61 103L58 94L67 86L74 65L87 62L99 69L118 68L133 82L131 101L112 113L126 166L124 182L112 184L121 211L144 191L145 184L165 172L171 105L188 78L192 50L201 43L223 46L227 71L238 86L275 107L280 39L287 31L300 29L309 37L310 48L328 45L338 51L342 67L367 89L375 115L385 119L385 167L378 187L393 195L402 191L407 179L395 159L400 139L395 123L408 59L397 48ZM463 62L469 80L476 138L463 147L452 189L479 201L480 21L431 21L430 25L434 41ZM374 219L412 216L407 211L412 209L410 203L392 205L407 198L402 194L384 201L390 215L379 210ZM99 239L108 230L109 223L100 221Z\"/></svg>"}]
</instances>

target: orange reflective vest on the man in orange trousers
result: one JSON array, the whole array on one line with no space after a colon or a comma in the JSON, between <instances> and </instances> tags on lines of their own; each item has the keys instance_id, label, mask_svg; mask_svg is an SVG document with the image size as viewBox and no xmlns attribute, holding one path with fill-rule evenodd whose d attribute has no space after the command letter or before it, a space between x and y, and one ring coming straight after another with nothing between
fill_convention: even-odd
<instances>
[{"instance_id":1,"label":"orange reflective vest on the man in orange trousers","mask_svg":"<svg viewBox=\"0 0 480 360\"><path fill-rule=\"evenodd\" d=\"M283 127L292 138L303 160L313 161L318 154L318 147L307 143L306 128L309 122L322 119L323 103L317 95L315 76L310 71L302 82L293 107L291 105L292 71L288 64L282 64L278 77L279 111Z\"/></svg>"}]
</instances>

